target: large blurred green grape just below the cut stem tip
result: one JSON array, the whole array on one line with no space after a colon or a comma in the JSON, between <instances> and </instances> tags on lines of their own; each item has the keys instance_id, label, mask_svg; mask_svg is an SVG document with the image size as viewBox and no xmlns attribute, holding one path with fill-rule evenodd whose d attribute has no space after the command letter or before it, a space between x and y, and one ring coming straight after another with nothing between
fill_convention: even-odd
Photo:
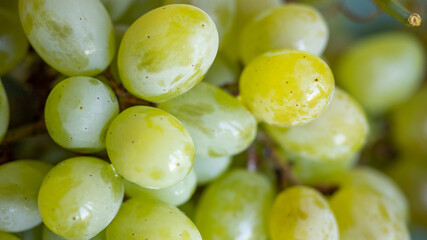
<instances>
[{"instance_id":1,"label":"large blurred green grape just below the cut stem tip","mask_svg":"<svg viewBox=\"0 0 427 240\"><path fill-rule=\"evenodd\" d=\"M351 46L339 58L338 85L372 115L407 100L422 82L424 49L409 33L374 35Z\"/></svg>"}]
</instances>

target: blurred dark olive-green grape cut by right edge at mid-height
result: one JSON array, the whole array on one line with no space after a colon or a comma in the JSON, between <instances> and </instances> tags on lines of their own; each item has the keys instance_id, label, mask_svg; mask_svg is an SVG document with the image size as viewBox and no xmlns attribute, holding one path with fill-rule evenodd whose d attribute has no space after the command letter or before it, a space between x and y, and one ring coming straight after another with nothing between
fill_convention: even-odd
<instances>
[{"instance_id":1,"label":"blurred dark olive-green grape cut by right edge at mid-height","mask_svg":"<svg viewBox=\"0 0 427 240\"><path fill-rule=\"evenodd\" d=\"M391 132L397 148L420 157L427 157L426 103L427 86L424 86L396 108L391 118Z\"/></svg>"}]
</instances>

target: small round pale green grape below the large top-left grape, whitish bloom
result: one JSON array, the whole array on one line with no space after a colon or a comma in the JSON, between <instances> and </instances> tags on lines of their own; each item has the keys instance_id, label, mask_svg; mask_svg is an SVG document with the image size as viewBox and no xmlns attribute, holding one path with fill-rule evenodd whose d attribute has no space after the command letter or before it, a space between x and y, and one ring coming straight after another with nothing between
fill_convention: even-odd
<instances>
[{"instance_id":1,"label":"small round pale green grape below the large top-left grape, whitish bloom","mask_svg":"<svg viewBox=\"0 0 427 240\"><path fill-rule=\"evenodd\" d=\"M105 148L108 125L118 112L119 103L108 85L91 77L71 77L49 94L46 127L63 148L98 152Z\"/></svg>"}]
</instances>

